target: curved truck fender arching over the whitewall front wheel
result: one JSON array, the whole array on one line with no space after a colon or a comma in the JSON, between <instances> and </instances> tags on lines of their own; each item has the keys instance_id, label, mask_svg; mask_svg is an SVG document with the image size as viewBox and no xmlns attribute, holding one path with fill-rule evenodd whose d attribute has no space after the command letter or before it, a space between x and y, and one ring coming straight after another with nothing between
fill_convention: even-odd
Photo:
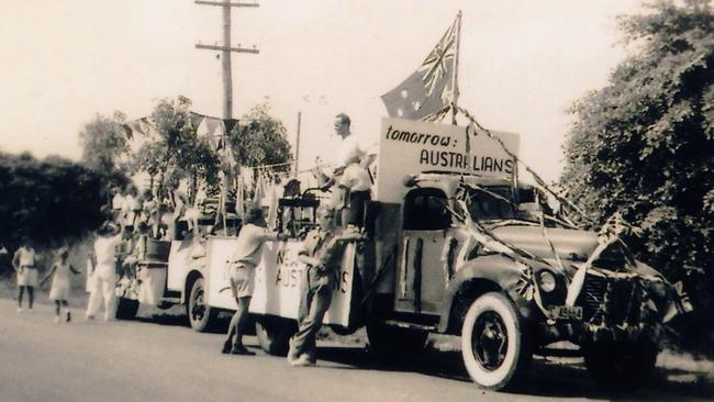
<instances>
[{"instance_id":1,"label":"curved truck fender arching over the whitewall front wheel","mask_svg":"<svg viewBox=\"0 0 714 402\"><path fill-rule=\"evenodd\" d=\"M459 315L468 309L464 301L470 304L480 294L489 291L505 292L518 308L518 312L529 317L534 313L531 302L520 292L523 284L523 269L512 259L502 255L477 257L464 264L446 287L442 304L438 332L446 333L460 328ZM464 298L466 295L466 298Z\"/></svg>"}]
</instances>

